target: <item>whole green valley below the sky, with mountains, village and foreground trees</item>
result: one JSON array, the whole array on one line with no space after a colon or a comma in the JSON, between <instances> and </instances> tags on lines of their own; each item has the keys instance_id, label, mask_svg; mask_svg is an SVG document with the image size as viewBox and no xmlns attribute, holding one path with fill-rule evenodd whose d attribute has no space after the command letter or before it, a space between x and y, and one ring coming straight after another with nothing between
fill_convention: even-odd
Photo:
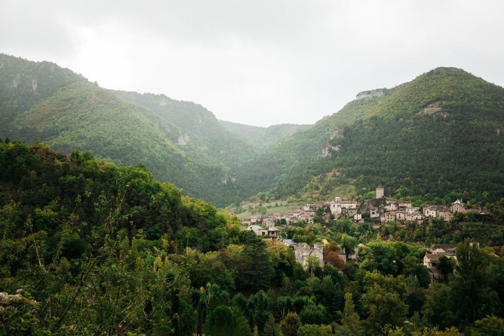
<instances>
[{"instance_id":1,"label":"whole green valley below the sky, with mountains, village and foreground trees","mask_svg":"<svg viewBox=\"0 0 504 336\"><path fill-rule=\"evenodd\" d=\"M0 335L504 332L503 88L254 127L0 64Z\"/></svg>"}]
</instances>

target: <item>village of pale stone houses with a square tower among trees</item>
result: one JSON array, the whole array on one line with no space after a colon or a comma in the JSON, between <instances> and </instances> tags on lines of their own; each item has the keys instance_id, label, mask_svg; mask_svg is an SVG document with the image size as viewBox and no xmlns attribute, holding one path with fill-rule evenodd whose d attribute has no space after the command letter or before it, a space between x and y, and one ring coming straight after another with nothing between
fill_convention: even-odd
<instances>
[{"instance_id":1,"label":"village of pale stone houses with a square tower among trees","mask_svg":"<svg viewBox=\"0 0 504 336\"><path fill-rule=\"evenodd\" d=\"M325 204L306 204L302 209L285 214L267 213L263 216L244 218L241 221L241 229L253 231L256 235L265 239L283 242L285 245L292 247L296 262L301 263L304 268L307 268L308 258L312 256L317 257L319 264L324 267L324 243L316 242L313 246L310 246L305 242L298 243L292 239L286 239L284 233L287 229L302 223L313 224L313 218L320 208L330 210L331 218L334 217L334 220L347 217L355 224L364 224L367 219L374 229L387 225L389 222L397 222L403 225L408 223L421 224L426 219L440 218L449 222L456 213L465 214L469 211L464 207L461 199L457 199L450 208L428 204L423 205L421 208L413 207L410 201L386 198L384 188L379 186L376 187L375 198L365 200L362 206L356 200L341 200L340 196L336 196L334 200L327 201ZM470 211L480 213L481 209L471 209ZM456 260L456 247L456 244L436 244L429 248L431 253L425 253L423 265L429 270L431 279L444 279L445 275L437 268L439 256L444 255ZM358 248L351 254L347 254L344 249L340 250L338 254L343 262L357 262L358 260Z\"/></svg>"}]
</instances>

